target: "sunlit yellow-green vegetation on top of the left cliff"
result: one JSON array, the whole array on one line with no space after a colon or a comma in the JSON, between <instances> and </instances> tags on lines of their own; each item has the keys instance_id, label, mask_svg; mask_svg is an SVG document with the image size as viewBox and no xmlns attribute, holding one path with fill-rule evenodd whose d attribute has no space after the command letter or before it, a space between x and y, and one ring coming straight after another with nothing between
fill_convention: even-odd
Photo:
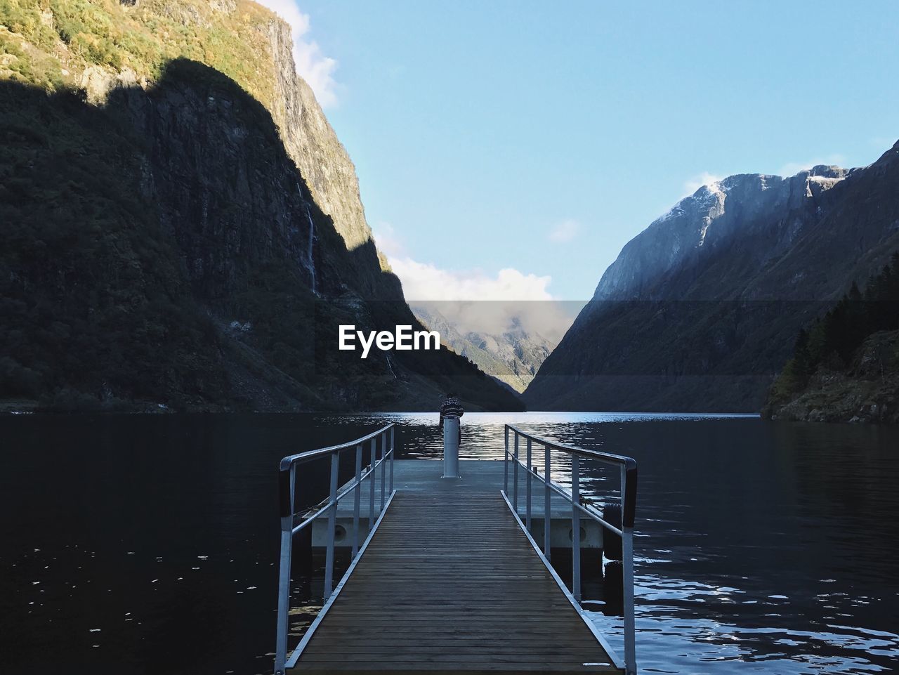
<instances>
[{"instance_id":1,"label":"sunlit yellow-green vegetation on top of the left cliff","mask_svg":"<svg viewBox=\"0 0 899 675\"><path fill-rule=\"evenodd\" d=\"M158 79L174 58L227 75L271 110L274 75L259 4L209 0L0 0L0 78L49 90L79 85L89 67ZM5 27L5 30L4 28Z\"/></svg>"}]
</instances>

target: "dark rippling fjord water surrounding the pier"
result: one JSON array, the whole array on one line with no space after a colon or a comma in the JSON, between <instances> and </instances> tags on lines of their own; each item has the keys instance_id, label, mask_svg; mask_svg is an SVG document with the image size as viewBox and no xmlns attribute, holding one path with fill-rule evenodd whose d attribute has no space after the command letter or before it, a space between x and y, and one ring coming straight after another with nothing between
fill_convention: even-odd
<instances>
[{"instance_id":1,"label":"dark rippling fjord water surrounding the pier","mask_svg":"<svg viewBox=\"0 0 899 675\"><path fill-rule=\"evenodd\" d=\"M400 457L439 457L435 418L0 418L0 671L270 673L277 460L387 420L403 422ZM501 457L505 422L636 457L641 671L899 662L899 428L617 413L465 422L464 457ZM323 471L307 475L310 500ZM585 491L617 486L584 473Z\"/></svg>"}]
</instances>

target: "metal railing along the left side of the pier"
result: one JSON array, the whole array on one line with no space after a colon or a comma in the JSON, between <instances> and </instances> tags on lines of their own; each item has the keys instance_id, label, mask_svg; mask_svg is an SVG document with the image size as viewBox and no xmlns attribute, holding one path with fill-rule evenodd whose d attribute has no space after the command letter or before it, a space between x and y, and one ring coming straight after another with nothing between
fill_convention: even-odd
<instances>
[{"instance_id":1,"label":"metal railing along the left side of the pier","mask_svg":"<svg viewBox=\"0 0 899 675\"><path fill-rule=\"evenodd\" d=\"M380 440L381 455L378 459L378 440ZM363 470L362 454L363 446L370 442L370 461L369 465ZM387 448L389 442L389 449ZM356 472L353 480L338 492L338 472L340 469L340 455L343 450L356 449ZM331 457L331 483L328 498L308 511L297 524L294 523L294 504L296 502L296 484L297 484L297 466L306 464L307 462L321 459L323 457ZM387 462L389 458L389 462ZM301 529L309 527L319 516L325 512L328 516L327 546L325 548L325 604L331 598L334 591L334 530L336 529L337 505L348 494L353 495L352 506L352 566L361 553L359 541L359 522L360 522L360 502L362 493L362 481L371 478L369 490L369 537L372 529L375 527L375 517L382 514L385 508L385 487L387 484L387 464L390 466L389 489L387 491L387 502L389 496L394 492L394 425L387 424L383 429L369 433L360 439L351 440L341 445L331 446L330 448L321 448L301 452L298 455L290 455L280 460L279 472L279 498L280 498L280 571L278 578L278 636L275 645L275 674L283 675L285 667L290 667L296 662L298 653L304 646L300 642L293 656L288 659L287 640L289 630L289 610L290 610L290 561L293 548L293 537ZM378 466L380 467L380 505L378 511L375 511L375 482L378 477ZM366 542L367 543L367 542ZM364 544L362 546L364 548ZM323 609L324 614L324 609ZM307 635L311 633L310 626Z\"/></svg>"}]
</instances>

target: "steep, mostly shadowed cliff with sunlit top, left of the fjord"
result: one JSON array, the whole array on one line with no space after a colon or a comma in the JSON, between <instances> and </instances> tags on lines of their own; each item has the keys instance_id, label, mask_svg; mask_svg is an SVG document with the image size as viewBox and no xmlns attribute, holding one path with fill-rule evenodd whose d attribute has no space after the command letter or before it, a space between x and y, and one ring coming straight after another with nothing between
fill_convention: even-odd
<instances>
[{"instance_id":1,"label":"steep, mostly shadowed cliff with sunlit top, left of the fjord","mask_svg":"<svg viewBox=\"0 0 899 675\"><path fill-rule=\"evenodd\" d=\"M0 398L52 407L520 404L417 322L352 162L249 2L0 4Z\"/></svg>"}]
</instances>

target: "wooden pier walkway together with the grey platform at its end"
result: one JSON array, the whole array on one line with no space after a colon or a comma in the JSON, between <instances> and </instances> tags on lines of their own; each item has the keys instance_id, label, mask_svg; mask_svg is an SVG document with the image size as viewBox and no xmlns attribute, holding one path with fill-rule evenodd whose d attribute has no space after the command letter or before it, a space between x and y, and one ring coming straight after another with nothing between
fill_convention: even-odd
<instances>
[{"instance_id":1,"label":"wooden pier walkway together with the grey platform at its end","mask_svg":"<svg viewBox=\"0 0 899 675\"><path fill-rule=\"evenodd\" d=\"M360 448L364 443L368 449L369 439L355 446L357 478L341 487L333 478L332 501L307 514L299 526L292 517L289 521L292 531L317 520L334 532L338 515L349 512L357 533L350 537L358 542L360 530L363 535L368 530L368 537L333 592L326 576L325 606L290 658L284 648L276 672L636 672L583 613L503 487L508 490L510 480L519 485L513 491L521 498L518 511L527 494L530 506L533 501L547 507L551 522L563 508L556 503L561 491L550 495L547 481L544 495L535 473L531 478L540 498L532 500L534 486L522 483L526 472L512 472L511 462L495 460L462 460L460 478L442 478L440 461L394 461L393 439L388 451L387 436L381 440L380 462L377 440L371 439L366 474L360 469ZM334 459L332 466L337 466ZM578 511L587 512L569 502L569 524ZM580 531L577 518L574 527ZM282 536L282 550L284 544ZM326 566L333 565L334 546L331 537ZM628 665L632 662L631 653Z\"/></svg>"}]
</instances>

